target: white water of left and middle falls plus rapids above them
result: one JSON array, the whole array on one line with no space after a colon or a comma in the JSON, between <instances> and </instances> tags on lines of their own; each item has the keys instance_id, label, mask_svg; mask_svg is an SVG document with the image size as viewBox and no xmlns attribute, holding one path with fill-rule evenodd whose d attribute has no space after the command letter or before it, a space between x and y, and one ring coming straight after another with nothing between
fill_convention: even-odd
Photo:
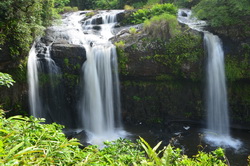
<instances>
[{"instance_id":1,"label":"white water of left and middle falls plus rapids above them","mask_svg":"<svg viewBox=\"0 0 250 166\"><path fill-rule=\"evenodd\" d=\"M79 113L73 121L77 121L78 128L84 128L89 137L88 142L93 144L102 144L103 141L125 136L121 125L116 48L109 41L114 36L112 29L116 24L116 15L121 12L122 10L99 11L92 18L87 18L86 13L82 12L70 13L65 15L62 25L49 29L53 32L53 41L66 40L68 44L81 45L86 50L87 60L81 71L82 89L78 104ZM58 118L59 116L70 116L66 113L67 111L62 112L59 108L60 105L64 107L63 94L58 94L63 87L60 87L60 78L56 78L57 81L54 79L56 75L62 74L60 74L60 68L50 58L50 46L47 46L46 49L42 48L45 50L42 52L46 52L45 55L40 56L39 52L41 51L36 50L35 46L32 47L29 55L28 70L32 114L47 119L50 116L45 116L46 111L44 113L44 110L48 110L46 114L51 115L52 121L55 119L70 121L63 117ZM41 70L43 70L42 73L47 72L50 80L47 86L48 90L45 92L39 83ZM59 73L56 74L56 72ZM58 112L60 115L53 115L54 112Z\"/></svg>"}]
</instances>

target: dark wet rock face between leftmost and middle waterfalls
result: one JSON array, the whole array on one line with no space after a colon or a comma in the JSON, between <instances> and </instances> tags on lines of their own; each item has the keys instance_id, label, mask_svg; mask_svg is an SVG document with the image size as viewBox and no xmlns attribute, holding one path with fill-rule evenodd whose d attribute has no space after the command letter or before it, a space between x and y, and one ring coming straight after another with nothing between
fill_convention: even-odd
<instances>
[{"instance_id":1,"label":"dark wet rock face between leftmost and middle waterfalls","mask_svg":"<svg viewBox=\"0 0 250 166\"><path fill-rule=\"evenodd\" d=\"M79 83L86 50L82 45L69 44L67 34L58 34L53 29L47 29L35 47L40 66L40 96L42 103L48 106L46 119L74 128L77 122L72 117L76 117L80 98ZM51 68L51 64L56 67ZM60 110L63 116L59 117L51 110Z\"/></svg>"}]
</instances>

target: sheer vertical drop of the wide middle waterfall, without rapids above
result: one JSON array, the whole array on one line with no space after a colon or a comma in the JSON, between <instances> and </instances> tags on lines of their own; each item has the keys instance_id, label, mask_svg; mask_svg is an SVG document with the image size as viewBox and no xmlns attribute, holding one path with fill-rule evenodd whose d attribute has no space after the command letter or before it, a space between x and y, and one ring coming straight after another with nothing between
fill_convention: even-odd
<instances>
[{"instance_id":1,"label":"sheer vertical drop of the wide middle waterfall, without rapids above","mask_svg":"<svg viewBox=\"0 0 250 166\"><path fill-rule=\"evenodd\" d=\"M87 50L87 61L83 66L84 101L83 122L86 130L95 134L113 132L115 129L114 92L119 84L113 84L117 75L113 74L112 54L115 47L95 46ZM118 110L119 111L119 110ZM98 123L96 123L98 122Z\"/></svg>"}]
</instances>

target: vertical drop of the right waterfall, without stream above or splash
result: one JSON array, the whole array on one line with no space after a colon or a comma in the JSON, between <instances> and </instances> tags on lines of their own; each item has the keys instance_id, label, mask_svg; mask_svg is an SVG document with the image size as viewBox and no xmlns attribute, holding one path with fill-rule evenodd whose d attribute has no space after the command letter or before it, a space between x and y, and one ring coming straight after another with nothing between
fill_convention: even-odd
<instances>
[{"instance_id":1,"label":"vertical drop of the right waterfall, without stream above or splash","mask_svg":"<svg viewBox=\"0 0 250 166\"><path fill-rule=\"evenodd\" d=\"M204 33L207 59L207 126L219 135L229 135L224 52L218 36Z\"/></svg>"}]
</instances>

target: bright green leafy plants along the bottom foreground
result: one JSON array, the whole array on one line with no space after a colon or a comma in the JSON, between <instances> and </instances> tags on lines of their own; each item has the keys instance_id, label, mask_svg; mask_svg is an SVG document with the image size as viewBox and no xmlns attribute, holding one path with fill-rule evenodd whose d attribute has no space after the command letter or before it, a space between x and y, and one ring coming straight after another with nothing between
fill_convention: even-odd
<instances>
[{"instance_id":1,"label":"bright green leafy plants along the bottom foreground","mask_svg":"<svg viewBox=\"0 0 250 166\"><path fill-rule=\"evenodd\" d=\"M80 149L78 140L65 137L61 125L41 122L34 117L6 119L0 109L1 165L226 165L220 148L188 158L170 145L158 151L161 142L151 148L142 138L138 143L118 139L105 142L102 149L93 145Z\"/></svg>"}]
</instances>

